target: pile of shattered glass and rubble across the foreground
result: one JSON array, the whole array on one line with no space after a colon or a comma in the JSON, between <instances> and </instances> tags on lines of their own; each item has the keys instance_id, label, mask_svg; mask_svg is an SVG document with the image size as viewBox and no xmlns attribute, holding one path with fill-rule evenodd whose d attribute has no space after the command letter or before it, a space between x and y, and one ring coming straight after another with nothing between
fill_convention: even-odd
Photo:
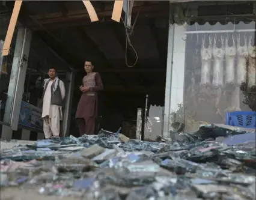
<instances>
[{"instance_id":1,"label":"pile of shattered glass and rubble across the foreground","mask_svg":"<svg viewBox=\"0 0 256 200\"><path fill-rule=\"evenodd\" d=\"M175 138L101 130L37 141L1 151L0 184L99 200L255 199L255 131L209 125Z\"/></svg>"}]
</instances>

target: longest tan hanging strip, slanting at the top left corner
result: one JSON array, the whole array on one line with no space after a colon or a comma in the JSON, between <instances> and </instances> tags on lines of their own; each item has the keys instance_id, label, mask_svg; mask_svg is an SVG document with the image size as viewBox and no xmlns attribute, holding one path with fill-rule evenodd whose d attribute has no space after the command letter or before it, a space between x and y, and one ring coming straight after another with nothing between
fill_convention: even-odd
<instances>
[{"instance_id":1,"label":"longest tan hanging strip, slanting at the top left corner","mask_svg":"<svg viewBox=\"0 0 256 200\"><path fill-rule=\"evenodd\" d=\"M13 13L11 14L11 20L8 26L7 34L5 36L4 47L2 49L2 56L7 56L10 51L11 40L13 39L14 28L17 23L17 19L20 12L22 1L15 1Z\"/></svg>"}]
</instances>

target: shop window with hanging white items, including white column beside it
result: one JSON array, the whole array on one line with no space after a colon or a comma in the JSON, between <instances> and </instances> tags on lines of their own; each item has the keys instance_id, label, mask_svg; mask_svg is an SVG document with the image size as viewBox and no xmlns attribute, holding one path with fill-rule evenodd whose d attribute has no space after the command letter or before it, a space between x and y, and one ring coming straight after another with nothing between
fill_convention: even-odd
<instances>
[{"instance_id":1,"label":"shop window with hanging white items, including white column beside it","mask_svg":"<svg viewBox=\"0 0 256 200\"><path fill-rule=\"evenodd\" d=\"M255 22L174 29L169 126L225 124L226 112L256 111Z\"/></svg>"}]
</instances>

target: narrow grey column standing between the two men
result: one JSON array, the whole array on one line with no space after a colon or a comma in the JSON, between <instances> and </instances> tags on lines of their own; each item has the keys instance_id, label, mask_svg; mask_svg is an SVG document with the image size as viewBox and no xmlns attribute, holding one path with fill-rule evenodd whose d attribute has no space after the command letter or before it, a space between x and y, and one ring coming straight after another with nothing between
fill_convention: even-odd
<instances>
[{"instance_id":1,"label":"narrow grey column standing between the two men","mask_svg":"<svg viewBox=\"0 0 256 200\"><path fill-rule=\"evenodd\" d=\"M66 97L65 97L65 109L64 109L64 116L63 116L63 123L62 123L62 133L61 136L68 136L69 129L70 129L70 120L71 112L72 112L72 100L73 100L73 92L74 92L74 83L75 83L75 73L67 72L66 75L67 80L67 88L66 88Z\"/></svg>"}]
</instances>

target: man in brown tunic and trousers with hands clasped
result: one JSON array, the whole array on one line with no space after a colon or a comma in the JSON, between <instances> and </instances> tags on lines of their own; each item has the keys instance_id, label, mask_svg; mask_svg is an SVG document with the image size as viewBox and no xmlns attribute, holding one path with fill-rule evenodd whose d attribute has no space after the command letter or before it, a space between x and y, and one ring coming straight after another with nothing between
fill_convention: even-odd
<instances>
[{"instance_id":1,"label":"man in brown tunic and trousers with hands clasped","mask_svg":"<svg viewBox=\"0 0 256 200\"><path fill-rule=\"evenodd\" d=\"M93 72L93 62L85 61L85 71L80 90L83 92L76 110L76 121L78 123L80 135L94 135L95 119L98 110L98 95L97 93L103 90L102 79L100 74Z\"/></svg>"}]
</instances>

